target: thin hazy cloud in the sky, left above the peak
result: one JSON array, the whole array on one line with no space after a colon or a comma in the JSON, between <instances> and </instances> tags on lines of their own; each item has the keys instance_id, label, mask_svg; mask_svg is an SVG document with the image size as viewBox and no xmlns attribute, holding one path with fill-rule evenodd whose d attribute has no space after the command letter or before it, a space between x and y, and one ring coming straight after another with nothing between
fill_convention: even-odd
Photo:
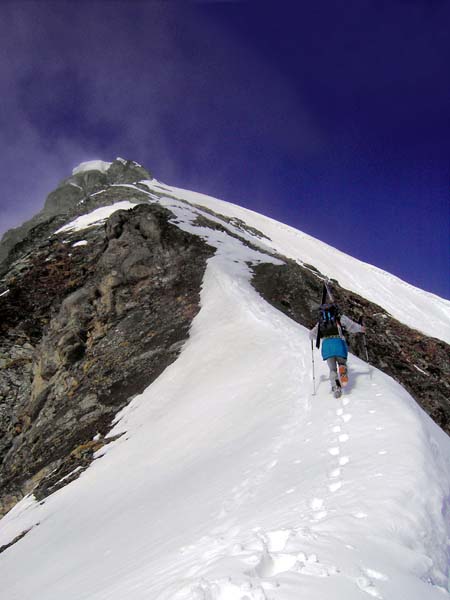
<instances>
[{"instance_id":1,"label":"thin hazy cloud in the sky, left above the peak","mask_svg":"<svg viewBox=\"0 0 450 600\"><path fill-rule=\"evenodd\" d=\"M125 155L161 179L221 179L243 148L323 143L290 83L193 5L18 2L0 14L0 230L82 160Z\"/></svg>"}]
</instances>

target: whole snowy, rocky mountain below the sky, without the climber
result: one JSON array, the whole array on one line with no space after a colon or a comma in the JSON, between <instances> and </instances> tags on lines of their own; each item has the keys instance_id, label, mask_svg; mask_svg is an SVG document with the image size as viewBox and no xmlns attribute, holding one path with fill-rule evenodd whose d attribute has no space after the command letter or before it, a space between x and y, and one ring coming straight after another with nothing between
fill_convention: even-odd
<instances>
[{"instance_id":1,"label":"whole snowy, rocky mountain below the sky, without the climber","mask_svg":"<svg viewBox=\"0 0 450 600\"><path fill-rule=\"evenodd\" d=\"M449 596L449 302L124 159L0 261L2 598Z\"/></svg>"}]
</instances>

